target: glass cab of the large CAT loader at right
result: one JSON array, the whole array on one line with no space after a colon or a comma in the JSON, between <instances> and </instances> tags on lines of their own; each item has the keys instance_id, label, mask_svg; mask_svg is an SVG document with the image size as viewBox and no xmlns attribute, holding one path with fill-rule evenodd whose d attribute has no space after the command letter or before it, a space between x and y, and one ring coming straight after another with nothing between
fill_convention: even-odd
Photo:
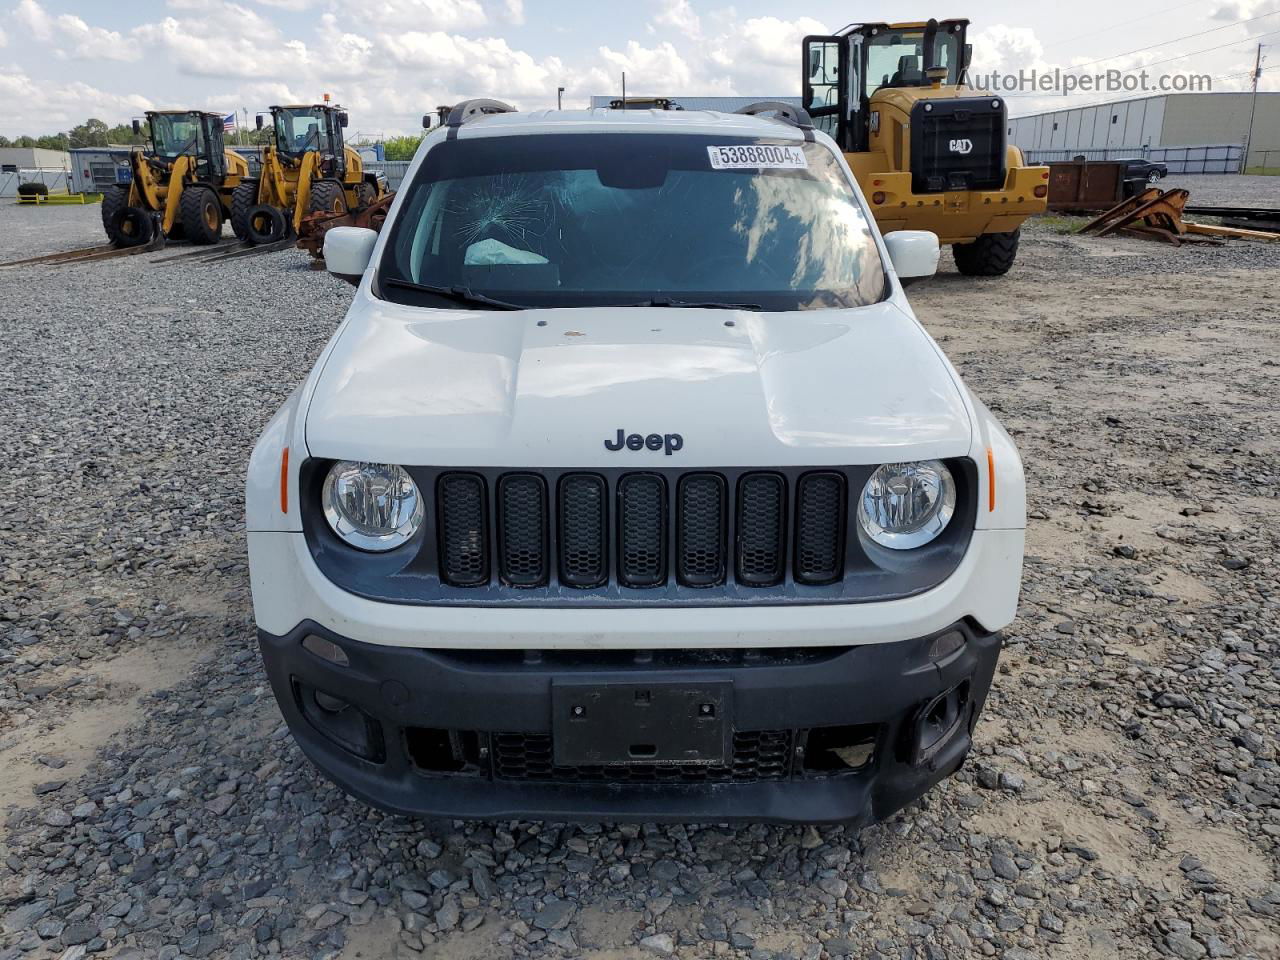
<instances>
[{"instance_id":1,"label":"glass cab of the large CAT loader at right","mask_svg":"<svg viewBox=\"0 0 1280 960\"><path fill-rule=\"evenodd\" d=\"M969 20L854 23L804 38L804 108L846 154L868 148L877 91L959 84Z\"/></svg>"}]
</instances>

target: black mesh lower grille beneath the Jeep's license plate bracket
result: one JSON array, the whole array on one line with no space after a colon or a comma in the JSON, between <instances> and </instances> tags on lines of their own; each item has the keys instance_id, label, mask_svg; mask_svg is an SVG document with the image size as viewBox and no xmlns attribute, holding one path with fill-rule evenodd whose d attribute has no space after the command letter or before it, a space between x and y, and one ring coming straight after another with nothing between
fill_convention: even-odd
<instances>
[{"instance_id":1,"label":"black mesh lower grille beneath the Jeep's license plate bracket","mask_svg":"<svg viewBox=\"0 0 1280 960\"><path fill-rule=\"evenodd\" d=\"M728 764L611 763L557 767L549 733L494 733L493 774L498 780L595 783L749 783L786 780L791 773L790 730L733 733Z\"/></svg>"}]
</instances>

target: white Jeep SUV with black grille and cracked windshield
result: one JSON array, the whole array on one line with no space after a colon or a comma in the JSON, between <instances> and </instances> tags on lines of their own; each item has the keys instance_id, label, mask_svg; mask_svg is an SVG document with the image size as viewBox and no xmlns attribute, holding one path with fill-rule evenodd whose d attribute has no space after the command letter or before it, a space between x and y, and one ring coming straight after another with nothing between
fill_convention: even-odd
<instances>
[{"instance_id":1,"label":"white Jeep SUV with black grille and cracked windshield","mask_svg":"<svg viewBox=\"0 0 1280 960\"><path fill-rule=\"evenodd\" d=\"M777 105L774 105L777 106ZM1018 452L799 111L460 105L262 433L262 659L356 797L867 822L956 771L1014 617Z\"/></svg>"}]
</instances>

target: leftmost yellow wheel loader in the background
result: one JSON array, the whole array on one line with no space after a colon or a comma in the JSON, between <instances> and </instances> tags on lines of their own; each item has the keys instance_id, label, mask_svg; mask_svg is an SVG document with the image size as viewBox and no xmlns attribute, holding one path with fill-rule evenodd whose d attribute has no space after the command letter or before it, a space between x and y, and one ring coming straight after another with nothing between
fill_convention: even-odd
<instances>
[{"instance_id":1,"label":"leftmost yellow wheel loader in the background","mask_svg":"<svg viewBox=\"0 0 1280 960\"><path fill-rule=\"evenodd\" d=\"M102 195L102 228L116 247L169 239L216 243L232 195L248 174L223 147L223 118L200 110L148 110L151 142L129 154L132 179ZM142 124L133 122L134 133Z\"/></svg>"}]
</instances>

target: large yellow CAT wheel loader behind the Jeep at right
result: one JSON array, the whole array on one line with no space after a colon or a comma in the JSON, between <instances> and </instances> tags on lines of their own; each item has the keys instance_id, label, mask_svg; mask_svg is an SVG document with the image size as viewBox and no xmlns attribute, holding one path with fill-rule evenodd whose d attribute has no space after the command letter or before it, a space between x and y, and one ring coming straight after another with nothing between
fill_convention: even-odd
<instances>
[{"instance_id":1,"label":"large yellow CAT wheel loader behind the Jeep at right","mask_svg":"<svg viewBox=\"0 0 1280 960\"><path fill-rule=\"evenodd\" d=\"M845 152L882 233L932 230L997 276L1048 205L1048 168L1006 142L1001 96L965 86L969 20L854 23L804 38L804 109Z\"/></svg>"}]
</instances>

